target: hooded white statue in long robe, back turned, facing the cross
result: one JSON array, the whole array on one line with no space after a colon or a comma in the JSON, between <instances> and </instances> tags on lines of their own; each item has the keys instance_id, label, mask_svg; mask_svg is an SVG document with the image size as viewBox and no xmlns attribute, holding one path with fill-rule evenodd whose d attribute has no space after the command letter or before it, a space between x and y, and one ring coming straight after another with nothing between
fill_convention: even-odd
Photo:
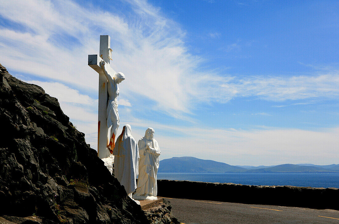
<instances>
[{"instance_id":1,"label":"hooded white statue in long robe, back turned, facing the cross","mask_svg":"<svg viewBox=\"0 0 339 224\"><path fill-rule=\"evenodd\" d=\"M131 194L137 188L139 151L137 142L131 135L131 126L125 125L115 142L113 150L115 177Z\"/></svg>"}]
</instances>

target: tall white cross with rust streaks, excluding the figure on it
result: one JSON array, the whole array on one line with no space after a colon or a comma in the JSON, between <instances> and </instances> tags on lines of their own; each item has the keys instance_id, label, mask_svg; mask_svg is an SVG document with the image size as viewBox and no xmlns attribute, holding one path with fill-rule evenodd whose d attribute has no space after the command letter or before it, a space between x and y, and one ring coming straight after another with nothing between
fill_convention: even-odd
<instances>
[{"instance_id":1,"label":"tall white cross with rust streaks, excluding the figure on it","mask_svg":"<svg viewBox=\"0 0 339 224\"><path fill-rule=\"evenodd\" d=\"M107 79L100 67L100 61L104 60L109 65L111 59L111 38L108 35L100 35L99 55L88 54L88 65L99 73L99 103L98 103L98 156L107 158L111 153L106 150L108 145L107 135ZM112 59L111 59L112 60ZM111 66L106 66L108 74L116 72Z\"/></svg>"}]
</instances>

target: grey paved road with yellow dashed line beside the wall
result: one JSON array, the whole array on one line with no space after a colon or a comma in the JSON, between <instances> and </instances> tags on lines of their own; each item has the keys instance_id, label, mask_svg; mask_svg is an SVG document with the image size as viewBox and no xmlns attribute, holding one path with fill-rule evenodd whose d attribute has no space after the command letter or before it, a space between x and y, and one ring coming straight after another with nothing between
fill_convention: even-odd
<instances>
[{"instance_id":1,"label":"grey paved road with yellow dashed line beside the wall","mask_svg":"<svg viewBox=\"0 0 339 224\"><path fill-rule=\"evenodd\" d=\"M160 197L158 197L160 198ZM165 198L184 224L339 224L339 211Z\"/></svg>"}]
</instances>

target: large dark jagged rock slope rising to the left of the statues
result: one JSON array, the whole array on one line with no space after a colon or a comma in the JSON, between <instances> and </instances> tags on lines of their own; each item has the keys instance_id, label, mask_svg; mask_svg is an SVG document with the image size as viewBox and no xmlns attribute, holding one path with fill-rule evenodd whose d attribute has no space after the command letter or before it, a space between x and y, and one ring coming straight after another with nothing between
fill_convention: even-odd
<instances>
[{"instance_id":1,"label":"large dark jagged rock slope rising to the left of the statues","mask_svg":"<svg viewBox=\"0 0 339 224\"><path fill-rule=\"evenodd\" d=\"M1 64L0 121L0 220L149 223L58 100Z\"/></svg>"}]
</instances>

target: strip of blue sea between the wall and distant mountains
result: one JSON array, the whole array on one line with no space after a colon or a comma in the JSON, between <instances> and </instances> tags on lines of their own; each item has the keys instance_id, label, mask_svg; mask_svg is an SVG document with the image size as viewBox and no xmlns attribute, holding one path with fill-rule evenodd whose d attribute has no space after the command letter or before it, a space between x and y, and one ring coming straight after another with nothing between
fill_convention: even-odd
<instances>
[{"instance_id":1,"label":"strip of blue sea between the wall and distant mountains","mask_svg":"<svg viewBox=\"0 0 339 224\"><path fill-rule=\"evenodd\" d=\"M339 173L158 173L158 179L339 188Z\"/></svg>"}]
</instances>

